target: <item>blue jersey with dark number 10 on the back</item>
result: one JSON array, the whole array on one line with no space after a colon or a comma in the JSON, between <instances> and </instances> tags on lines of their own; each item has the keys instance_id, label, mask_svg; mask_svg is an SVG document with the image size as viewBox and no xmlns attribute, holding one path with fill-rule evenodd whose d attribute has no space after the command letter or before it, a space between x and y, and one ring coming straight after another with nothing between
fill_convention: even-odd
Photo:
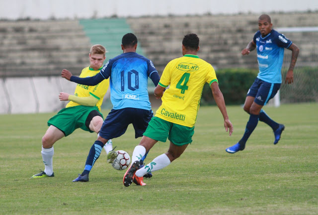
<instances>
[{"instance_id":1,"label":"blue jersey with dark number 10 on the back","mask_svg":"<svg viewBox=\"0 0 318 215\"><path fill-rule=\"evenodd\" d=\"M148 77L154 72L157 70L151 60L136 52L123 53L110 59L100 70L100 74L105 79L110 77L113 109L150 110Z\"/></svg>"}]
</instances>

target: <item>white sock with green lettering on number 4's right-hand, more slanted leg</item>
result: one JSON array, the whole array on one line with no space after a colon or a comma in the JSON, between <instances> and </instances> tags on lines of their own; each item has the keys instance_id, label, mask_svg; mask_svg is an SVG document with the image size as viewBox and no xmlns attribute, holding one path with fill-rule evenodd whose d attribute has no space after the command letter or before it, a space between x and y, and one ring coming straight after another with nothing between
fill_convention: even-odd
<instances>
[{"instance_id":1,"label":"white sock with green lettering on number 4's right-hand, more slanted leg","mask_svg":"<svg viewBox=\"0 0 318 215\"><path fill-rule=\"evenodd\" d=\"M166 154L159 155L151 163L147 164L145 167L137 170L136 176L142 177L150 172L155 172L160 170L170 164L170 159Z\"/></svg>"}]
</instances>

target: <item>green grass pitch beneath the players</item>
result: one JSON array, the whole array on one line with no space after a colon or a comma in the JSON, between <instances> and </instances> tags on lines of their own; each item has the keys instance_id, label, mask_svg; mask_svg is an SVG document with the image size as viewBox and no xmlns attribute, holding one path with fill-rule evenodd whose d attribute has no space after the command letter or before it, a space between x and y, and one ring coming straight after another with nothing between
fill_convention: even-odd
<instances>
[{"instance_id":1,"label":"green grass pitch beneath the players","mask_svg":"<svg viewBox=\"0 0 318 215\"><path fill-rule=\"evenodd\" d=\"M82 130L54 145L54 178L31 179L44 169L41 138L54 113L0 115L0 214L318 214L318 104L265 110L286 126L277 145L271 128L259 122L244 151L226 153L241 138L248 115L228 107L229 137L218 108L202 107L183 155L145 179L147 186L128 188L125 172L106 163L105 151L88 183L72 182L96 139ZM140 139L129 126L113 145L131 155ZM157 143L146 162L167 148Z\"/></svg>"}]
</instances>

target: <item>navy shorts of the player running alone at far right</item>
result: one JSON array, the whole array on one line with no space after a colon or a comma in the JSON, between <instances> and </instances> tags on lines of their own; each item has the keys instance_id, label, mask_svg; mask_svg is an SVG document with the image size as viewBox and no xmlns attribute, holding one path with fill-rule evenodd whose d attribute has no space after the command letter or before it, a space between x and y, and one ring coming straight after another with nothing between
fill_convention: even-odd
<instances>
[{"instance_id":1,"label":"navy shorts of the player running alone at far right","mask_svg":"<svg viewBox=\"0 0 318 215\"><path fill-rule=\"evenodd\" d=\"M280 85L281 84L268 83L256 78L246 96L255 97L254 102L256 104L265 106L268 101L276 95Z\"/></svg>"}]
</instances>

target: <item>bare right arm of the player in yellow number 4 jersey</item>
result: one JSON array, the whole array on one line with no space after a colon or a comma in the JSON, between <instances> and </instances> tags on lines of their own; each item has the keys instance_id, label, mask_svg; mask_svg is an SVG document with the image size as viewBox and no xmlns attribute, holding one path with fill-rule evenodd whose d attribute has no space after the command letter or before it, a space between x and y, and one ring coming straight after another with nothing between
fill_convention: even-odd
<instances>
[{"instance_id":1,"label":"bare right arm of the player in yellow number 4 jersey","mask_svg":"<svg viewBox=\"0 0 318 215\"><path fill-rule=\"evenodd\" d=\"M233 125L232 125L231 121L229 120L227 108L225 106L224 97L223 97L223 94L219 88L219 84L218 84L218 82L213 82L210 85L210 87L212 90L213 98L214 98L217 106L219 107L222 115L223 115L225 130L228 131L228 129L229 129L229 134L231 136L232 132L233 132Z\"/></svg>"}]
</instances>

